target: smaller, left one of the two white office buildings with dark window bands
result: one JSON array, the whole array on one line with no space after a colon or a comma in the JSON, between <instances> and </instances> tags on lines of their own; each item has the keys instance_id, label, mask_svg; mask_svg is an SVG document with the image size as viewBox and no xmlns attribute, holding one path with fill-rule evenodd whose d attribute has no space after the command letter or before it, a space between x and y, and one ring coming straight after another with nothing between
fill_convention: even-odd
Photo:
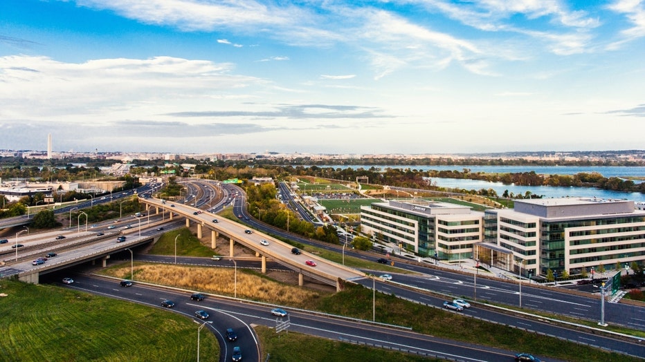
<instances>
[{"instance_id":1,"label":"smaller, left one of the two white office buildings with dark window bands","mask_svg":"<svg viewBox=\"0 0 645 362\"><path fill-rule=\"evenodd\" d=\"M417 256L461 260L482 240L482 217L446 202L390 200L361 207L361 232Z\"/></svg>"}]
</instances>

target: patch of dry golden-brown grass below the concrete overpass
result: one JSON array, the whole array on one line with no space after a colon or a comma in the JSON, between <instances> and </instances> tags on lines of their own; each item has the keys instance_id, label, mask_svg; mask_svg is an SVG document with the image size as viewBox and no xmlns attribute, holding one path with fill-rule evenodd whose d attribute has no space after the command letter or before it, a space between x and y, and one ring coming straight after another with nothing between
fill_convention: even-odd
<instances>
[{"instance_id":1,"label":"patch of dry golden-brown grass below the concrete overpass","mask_svg":"<svg viewBox=\"0 0 645 362\"><path fill-rule=\"evenodd\" d=\"M107 276L129 278L130 265L124 263L101 272ZM199 292L233 296L235 271L229 268L188 267L180 265L134 264L134 279ZM314 305L324 292L284 285L253 272L237 269L237 298L293 307Z\"/></svg>"}]
</instances>

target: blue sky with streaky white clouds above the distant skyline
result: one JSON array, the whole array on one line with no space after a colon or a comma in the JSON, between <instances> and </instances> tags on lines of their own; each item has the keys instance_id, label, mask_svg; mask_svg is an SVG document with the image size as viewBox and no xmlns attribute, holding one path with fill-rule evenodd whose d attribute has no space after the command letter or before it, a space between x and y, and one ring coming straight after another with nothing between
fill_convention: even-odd
<instances>
[{"instance_id":1,"label":"blue sky with streaky white clouds above the distant skyline","mask_svg":"<svg viewBox=\"0 0 645 362\"><path fill-rule=\"evenodd\" d=\"M2 0L0 149L645 149L645 0Z\"/></svg>"}]
</instances>

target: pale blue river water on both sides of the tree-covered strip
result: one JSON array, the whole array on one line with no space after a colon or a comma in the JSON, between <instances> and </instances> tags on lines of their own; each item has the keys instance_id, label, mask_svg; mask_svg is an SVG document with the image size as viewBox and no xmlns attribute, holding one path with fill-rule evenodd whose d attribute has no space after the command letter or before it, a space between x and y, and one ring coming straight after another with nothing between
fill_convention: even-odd
<instances>
[{"instance_id":1,"label":"pale blue river water on both sides of the tree-covered strip","mask_svg":"<svg viewBox=\"0 0 645 362\"><path fill-rule=\"evenodd\" d=\"M522 173L535 171L543 175L575 175L576 173L592 173L598 172L606 178L619 177L619 178L645 178L645 166L401 166L401 165L334 165L334 166L319 166L322 168L333 167L334 169L412 169L418 171L428 170L456 170L463 171L469 169L471 173L484 172L484 173ZM438 187L446 187L451 189L466 189L466 190L480 190L480 189L493 189L502 196L505 190L509 193L518 193L524 195L526 191L534 195L542 195L545 198L562 198L565 196L581 196L610 199L627 199L635 202L645 202L645 194L643 193L625 193L617 191L609 191L597 189L594 187L552 187L552 186L516 186L514 184L502 184L501 182L487 182L482 180L464 180L454 178L432 178L433 184ZM639 182L635 180L635 182Z\"/></svg>"}]
</instances>

